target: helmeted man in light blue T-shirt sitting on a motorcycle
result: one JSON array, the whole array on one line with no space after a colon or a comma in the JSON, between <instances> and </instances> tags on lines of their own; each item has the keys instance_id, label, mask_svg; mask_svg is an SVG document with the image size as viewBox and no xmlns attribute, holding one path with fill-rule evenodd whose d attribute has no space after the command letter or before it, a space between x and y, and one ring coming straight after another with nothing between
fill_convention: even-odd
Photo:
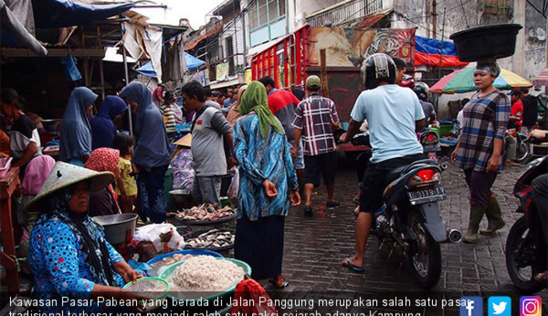
<instances>
[{"instance_id":1,"label":"helmeted man in light blue T-shirt sitting on a motorcycle","mask_svg":"<svg viewBox=\"0 0 548 316\"><path fill-rule=\"evenodd\" d=\"M367 118L373 156L359 184L362 194L357 207L356 254L343 261L343 266L357 272L364 270L363 255L373 213L384 204L386 176L397 167L423 159L416 132L425 125L419 99L411 89L395 84L396 65L389 55L370 55L363 63L362 76L366 91L357 98L348 131L340 138L341 142L349 142Z\"/></svg>"}]
</instances>

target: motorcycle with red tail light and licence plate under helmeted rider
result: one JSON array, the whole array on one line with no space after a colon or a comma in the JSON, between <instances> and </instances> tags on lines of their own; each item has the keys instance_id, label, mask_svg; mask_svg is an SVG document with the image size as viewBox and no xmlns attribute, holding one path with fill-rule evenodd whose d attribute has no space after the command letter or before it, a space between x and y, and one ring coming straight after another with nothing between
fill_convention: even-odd
<instances>
[{"instance_id":1,"label":"motorcycle with red tail light and licence plate under helmeted rider","mask_svg":"<svg viewBox=\"0 0 548 316\"><path fill-rule=\"evenodd\" d=\"M437 139L436 133L428 132L425 134L427 142L434 140L430 133ZM366 133L357 134L351 142L370 146ZM440 185L441 172L437 161L431 159L392 170L387 176L390 184L383 193L384 205L374 213L372 227L381 242L403 248L413 278L426 289L436 285L441 276L439 243L461 240L460 231L446 230L439 215L439 201L447 199L445 189Z\"/></svg>"}]
</instances>

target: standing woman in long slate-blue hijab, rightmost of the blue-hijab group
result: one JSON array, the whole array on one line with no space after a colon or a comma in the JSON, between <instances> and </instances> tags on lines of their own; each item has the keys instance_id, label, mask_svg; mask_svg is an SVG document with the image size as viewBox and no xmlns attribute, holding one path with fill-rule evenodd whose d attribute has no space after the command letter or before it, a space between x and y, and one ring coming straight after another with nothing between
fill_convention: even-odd
<instances>
[{"instance_id":1,"label":"standing woman in long slate-blue hijab, rightmost of the blue-hijab group","mask_svg":"<svg viewBox=\"0 0 548 316\"><path fill-rule=\"evenodd\" d=\"M137 115L135 120L135 150L132 162L138 172L137 208L143 222L165 221L164 174L169 165L169 143L164 120L152 103L152 93L140 82L128 84L120 92Z\"/></svg>"}]
</instances>

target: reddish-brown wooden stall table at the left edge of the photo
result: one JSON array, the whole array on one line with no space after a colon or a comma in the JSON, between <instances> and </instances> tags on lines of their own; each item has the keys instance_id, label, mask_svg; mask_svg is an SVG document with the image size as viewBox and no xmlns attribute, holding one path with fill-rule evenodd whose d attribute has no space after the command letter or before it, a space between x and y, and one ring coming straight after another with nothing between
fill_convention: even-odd
<instances>
[{"instance_id":1,"label":"reddish-brown wooden stall table at the left edge of the photo","mask_svg":"<svg viewBox=\"0 0 548 316\"><path fill-rule=\"evenodd\" d=\"M2 229L2 246L0 264L7 272L7 285L10 295L19 293L19 274L15 254L15 240L12 224L12 195L19 188L19 168L10 168L3 178L0 178L0 219Z\"/></svg>"}]
</instances>

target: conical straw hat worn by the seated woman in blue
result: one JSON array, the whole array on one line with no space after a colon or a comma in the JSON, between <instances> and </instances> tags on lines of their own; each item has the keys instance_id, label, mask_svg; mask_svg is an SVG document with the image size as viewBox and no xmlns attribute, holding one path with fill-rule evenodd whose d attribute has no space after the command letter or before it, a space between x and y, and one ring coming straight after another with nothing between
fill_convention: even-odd
<instances>
[{"instance_id":1,"label":"conical straw hat worn by the seated woman in blue","mask_svg":"<svg viewBox=\"0 0 548 316\"><path fill-rule=\"evenodd\" d=\"M52 172L45 178L44 185L42 185L42 188L38 191L36 197L28 201L25 207L29 211L37 211L37 208L40 206L38 202L45 198L45 196L85 179L92 180L92 183L89 185L89 191L95 192L113 182L114 174L108 171L96 172L87 168L71 165L70 163L58 161L55 163L55 166L53 166Z\"/></svg>"}]
</instances>

